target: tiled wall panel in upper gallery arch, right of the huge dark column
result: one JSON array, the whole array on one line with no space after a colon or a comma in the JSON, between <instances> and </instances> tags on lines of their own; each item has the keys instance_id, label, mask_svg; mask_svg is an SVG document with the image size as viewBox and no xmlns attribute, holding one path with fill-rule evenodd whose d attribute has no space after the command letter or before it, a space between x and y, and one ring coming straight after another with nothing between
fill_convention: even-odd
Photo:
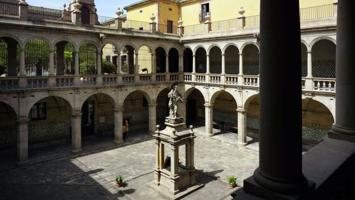
<instances>
[{"instance_id":1,"label":"tiled wall panel in upper gallery arch, right of the huge dark column","mask_svg":"<svg viewBox=\"0 0 355 200\"><path fill-rule=\"evenodd\" d=\"M312 76L335 78L335 60L312 60Z\"/></svg>"}]
</instances>

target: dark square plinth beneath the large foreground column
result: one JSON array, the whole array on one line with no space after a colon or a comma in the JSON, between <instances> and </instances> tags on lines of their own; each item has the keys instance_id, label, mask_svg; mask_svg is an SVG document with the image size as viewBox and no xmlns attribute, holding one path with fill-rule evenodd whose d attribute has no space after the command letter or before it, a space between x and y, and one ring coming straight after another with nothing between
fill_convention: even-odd
<instances>
[{"instance_id":1,"label":"dark square plinth beneath the large foreground column","mask_svg":"<svg viewBox=\"0 0 355 200\"><path fill-rule=\"evenodd\" d=\"M266 199L274 199L274 200L286 200L286 199L314 199L315 198L315 183L312 181L308 181L307 189L304 190L302 193L299 194L283 194L278 193L272 190L269 190L259 183L257 183L254 179L254 176L251 176L244 180L243 182L243 190L237 190L236 192L232 193L231 195L235 198L233 199L244 199L245 193L250 193L252 195L266 198ZM244 194L242 194L244 193ZM248 194L246 194L248 195ZM238 198L240 196L241 198ZM248 198L247 198L248 199ZM253 199L253 198L251 198ZM259 199L259 198L256 198Z\"/></svg>"}]
</instances>

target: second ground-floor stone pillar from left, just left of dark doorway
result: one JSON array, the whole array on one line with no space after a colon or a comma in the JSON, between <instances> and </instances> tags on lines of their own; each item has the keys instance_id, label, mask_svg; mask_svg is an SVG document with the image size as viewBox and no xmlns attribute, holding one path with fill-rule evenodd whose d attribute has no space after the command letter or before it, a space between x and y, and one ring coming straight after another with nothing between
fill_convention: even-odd
<instances>
[{"instance_id":1,"label":"second ground-floor stone pillar from left, just left of dark doorway","mask_svg":"<svg viewBox=\"0 0 355 200\"><path fill-rule=\"evenodd\" d=\"M82 113L72 114L72 152L80 153L81 149L81 116Z\"/></svg>"}]
</instances>

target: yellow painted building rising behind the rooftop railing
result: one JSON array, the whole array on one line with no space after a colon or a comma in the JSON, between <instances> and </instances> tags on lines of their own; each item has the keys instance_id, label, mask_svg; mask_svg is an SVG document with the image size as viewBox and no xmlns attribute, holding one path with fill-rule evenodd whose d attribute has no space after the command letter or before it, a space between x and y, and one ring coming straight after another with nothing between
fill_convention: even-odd
<instances>
[{"instance_id":1,"label":"yellow painted building rising behind the rooftop railing","mask_svg":"<svg viewBox=\"0 0 355 200\"><path fill-rule=\"evenodd\" d=\"M334 0L300 0L300 9L333 2ZM149 22L154 13L158 24L177 26L177 21L182 18L183 25L188 26L203 23L207 12L210 13L212 22L237 18L241 6L245 10L245 17L260 14L260 0L143 0L125 6L124 9L128 20ZM277 8L270 12L277 12Z\"/></svg>"}]
</instances>

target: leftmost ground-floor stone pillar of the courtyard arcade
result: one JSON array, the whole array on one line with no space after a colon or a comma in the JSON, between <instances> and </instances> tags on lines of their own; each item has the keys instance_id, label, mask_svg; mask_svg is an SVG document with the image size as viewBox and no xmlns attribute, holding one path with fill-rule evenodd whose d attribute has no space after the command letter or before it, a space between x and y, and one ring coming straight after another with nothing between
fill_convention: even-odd
<instances>
[{"instance_id":1,"label":"leftmost ground-floor stone pillar of the courtyard arcade","mask_svg":"<svg viewBox=\"0 0 355 200\"><path fill-rule=\"evenodd\" d=\"M17 121L16 164L19 166L28 164L28 121L28 119Z\"/></svg>"}]
</instances>

